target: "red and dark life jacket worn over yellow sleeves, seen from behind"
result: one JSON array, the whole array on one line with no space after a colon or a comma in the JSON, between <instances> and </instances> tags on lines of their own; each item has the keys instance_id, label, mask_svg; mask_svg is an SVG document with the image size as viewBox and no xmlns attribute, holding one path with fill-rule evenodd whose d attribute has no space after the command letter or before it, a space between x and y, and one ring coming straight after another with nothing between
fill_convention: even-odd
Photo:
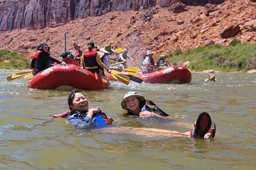
<instances>
[{"instance_id":1,"label":"red and dark life jacket worn over yellow sleeves, seen from behind","mask_svg":"<svg viewBox=\"0 0 256 170\"><path fill-rule=\"evenodd\" d=\"M94 67L98 66L96 55L97 55L97 49L85 49L84 52L84 63L86 67Z\"/></svg>"}]
</instances>

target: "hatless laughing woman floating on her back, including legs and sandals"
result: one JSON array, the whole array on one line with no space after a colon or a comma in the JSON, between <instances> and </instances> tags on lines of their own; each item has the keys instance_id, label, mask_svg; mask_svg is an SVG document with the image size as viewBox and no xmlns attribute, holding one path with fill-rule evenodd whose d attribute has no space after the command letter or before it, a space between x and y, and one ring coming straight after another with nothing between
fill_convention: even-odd
<instances>
[{"instance_id":1,"label":"hatless laughing woman floating on her back, including legs and sandals","mask_svg":"<svg viewBox=\"0 0 256 170\"><path fill-rule=\"evenodd\" d=\"M71 111L67 111L64 114L53 115L54 118L62 117L67 118L69 122L73 125L79 127L87 127L89 125L94 125L97 127L106 127L108 125L115 124L115 121L111 117L107 117L104 112L101 111L99 107L89 108L89 102L80 89L74 89L68 96L68 105ZM213 125L213 128L211 126ZM171 136L187 136L192 138L205 138L211 139L215 136L216 127L215 123L211 121L211 117L208 113L202 112L199 114L197 121L194 123L194 128L188 132L180 133L177 131L157 129L157 128L135 128L128 126L121 126L122 128L127 128L134 130L136 132L151 131L156 133L170 134ZM118 127L116 127L118 128Z\"/></svg>"}]
</instances>

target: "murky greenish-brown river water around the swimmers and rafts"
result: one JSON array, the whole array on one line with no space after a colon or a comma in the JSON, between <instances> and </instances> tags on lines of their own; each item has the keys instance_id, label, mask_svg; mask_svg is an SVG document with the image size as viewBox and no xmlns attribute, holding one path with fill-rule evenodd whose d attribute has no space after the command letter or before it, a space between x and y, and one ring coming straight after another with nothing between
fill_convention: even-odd
<instances>
[{"instance_id":1,"label":"murky greenish-brown river water around the swimmers and rafts","mask_svg":"<svg viewBox=\"0 0 256 170\"><path fill-rule=\"evenodd\" d=\"M116 125L77 128L53 114L68 110L71 89L35 90L13 72L0 72L0 169L253 169L256 164L256 74L193 73L190 84L111 82L85 91ZM176 121L127 118L120 102L127 91L154 101ZM189 131L200 112L216 124L212 140L166 136L129 127ZM120 127L126 127L122 130Z\"/></svg>"}]
</instances>

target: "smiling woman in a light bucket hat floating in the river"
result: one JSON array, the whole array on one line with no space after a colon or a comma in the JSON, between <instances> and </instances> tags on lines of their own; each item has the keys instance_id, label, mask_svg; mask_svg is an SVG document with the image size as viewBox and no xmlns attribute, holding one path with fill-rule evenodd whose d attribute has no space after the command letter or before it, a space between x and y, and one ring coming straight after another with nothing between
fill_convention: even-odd
<instances>
[{"instance_id":1,"label":"smiling woman in a light bucket hat floating in the river","mask_svg":"<svg viewBox=\"0 0 256 170\"><path fill-rule=\"evenodd\" d=\"M121 106L124 110L127 110L128 117L137 118L175 118L170 117L167 113L162 111L150 100L145 99L137 92L128 92L124 95L124 99L121 102Z\"/></svg>"}]
</instances>

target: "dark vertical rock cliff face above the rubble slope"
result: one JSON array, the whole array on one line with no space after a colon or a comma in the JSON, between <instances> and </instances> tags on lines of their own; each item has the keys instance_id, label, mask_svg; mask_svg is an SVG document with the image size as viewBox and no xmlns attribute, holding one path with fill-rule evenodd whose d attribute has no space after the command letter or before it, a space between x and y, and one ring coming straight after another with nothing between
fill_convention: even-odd
<instances>
[{"instance_id":1,"label":"dark vertical rock cliff face above the rubble slope","mask_svg":"<svg viewBox=\"0 0 256 170\"><path fill-rule=\"evenodd\" d=\"M179 0L0 0L0 31L42 29L76 18L99 16L110 11L168 7ZM224 0L180 0L187 5L222 3Z\"/></svg>"}]
</instances>

